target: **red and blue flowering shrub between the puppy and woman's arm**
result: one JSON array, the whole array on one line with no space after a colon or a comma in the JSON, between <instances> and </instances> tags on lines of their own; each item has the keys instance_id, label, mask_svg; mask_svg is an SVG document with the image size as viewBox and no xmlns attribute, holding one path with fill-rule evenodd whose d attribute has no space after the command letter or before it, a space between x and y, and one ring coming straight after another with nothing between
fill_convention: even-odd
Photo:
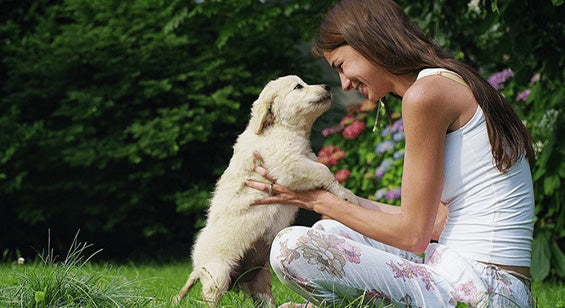
<instances>
[{"instance_id":1,"label":"red and blue flowering shrub between the puppy and woman's arm","mask_svg":"<svg viewBox=\"0 0 565 308\"><path fill-rule=\"evenodd\" d=\"M390 100L391 107L400 109L400 102ZM400 205L400 182L404 163L404 126L400 113L388 126L381 115L378 131L372 129L377 105L365 100L349 108L340 123L322 131L327 139L318 153L318 161L330 167L336 179L353 193Z\"/></svg>"}]
</instances>

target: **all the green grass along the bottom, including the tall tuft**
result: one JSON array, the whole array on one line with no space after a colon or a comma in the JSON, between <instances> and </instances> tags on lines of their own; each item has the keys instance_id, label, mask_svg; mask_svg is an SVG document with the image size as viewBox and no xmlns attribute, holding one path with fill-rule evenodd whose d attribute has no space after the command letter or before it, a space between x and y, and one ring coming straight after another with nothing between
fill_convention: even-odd
<instances>
[{"instance_id":1,"label":"all the green grass along the bottom, including the tall tuft","mask_svg":"<svg viewBox=\"0 0 565 308\"><path fill-rule=\"evenodd\" d=\"M172 307L172 299L191 270L181 262L121 266L93 263L89 260L97 252L85 257L88 248L75 238L62 260L48 249L25 265L16 261L0 264L0 307ZM565 308L563 282L534 282L532 291L538 307ZM277 305L303 302L276 277L273 294ZM198 283L179 307L207 307L199 298ZM253 303L243 293L229 292L220 306L253 307Z\"/></svg>"}]
</instances>

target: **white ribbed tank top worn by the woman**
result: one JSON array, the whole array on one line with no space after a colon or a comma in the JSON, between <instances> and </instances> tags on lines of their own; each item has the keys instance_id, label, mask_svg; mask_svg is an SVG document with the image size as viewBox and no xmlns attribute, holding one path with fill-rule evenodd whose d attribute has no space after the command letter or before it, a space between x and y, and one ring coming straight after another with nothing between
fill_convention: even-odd
<instances>
[{"instance_id":1,"label":"white ribbed tank top worn by the woman","mask_svg":"<svg viewBox=\"0 0 565 308\"><path fill-rule=\"evenodd\" d=\"M424 69L418 79L430 75L458 76ZM477 261L529 267L534 191L527 159L506 173L496 168L481 107L446 135L444 152L441 200L449 214L439 243Z\"/></svg>"}]
</instances>

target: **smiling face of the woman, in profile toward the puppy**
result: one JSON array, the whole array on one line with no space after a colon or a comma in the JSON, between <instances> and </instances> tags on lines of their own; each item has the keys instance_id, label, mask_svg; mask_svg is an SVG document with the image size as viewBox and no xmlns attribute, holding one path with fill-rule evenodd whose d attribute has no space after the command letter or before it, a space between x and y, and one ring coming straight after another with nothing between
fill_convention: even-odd
<instances>
[{"instance_id":1,"label":"smiling face of the woman, in profile toward the puppy","mask_svg":"<svg viewBox=\"0 0 565 308\"><path fill-rule=\"evenodd\" d=\"M394 92L392 74L367 60L353 47L344 45L324 52L324 56L339 73L344 91L359 90L364 97L374 102Z\"/></svg>"}]
</instances>

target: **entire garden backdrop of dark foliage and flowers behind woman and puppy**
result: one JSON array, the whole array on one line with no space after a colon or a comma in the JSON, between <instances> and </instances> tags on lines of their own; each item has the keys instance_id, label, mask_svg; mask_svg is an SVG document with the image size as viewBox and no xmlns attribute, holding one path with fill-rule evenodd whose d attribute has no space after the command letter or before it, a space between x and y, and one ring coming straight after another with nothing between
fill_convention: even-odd
<instances>
[{"instance_id":1,"label":"entire garden backdrop of dark foliage and flowers behind woman and puppy","mask_svg":"<svg viewBox=\"0 0 565 308\"><path fill-rule=\"evenodd\" d=\"M339 88L308 47L333 2L0 1L2 261L35 255L48 229L61 251L80 229L81 241L104 249L97 259L187 259L266 82L297 74ZM564 279L563 0L398 2L479 68L532 133L532 275ZM401 115L395 132L381 117L373 133L370 110L350 108L346 118L336 104L317 122L313 146L343 150L326 163L347 170L345 186L398 203Z\"/></svg>"}]
</instances>

